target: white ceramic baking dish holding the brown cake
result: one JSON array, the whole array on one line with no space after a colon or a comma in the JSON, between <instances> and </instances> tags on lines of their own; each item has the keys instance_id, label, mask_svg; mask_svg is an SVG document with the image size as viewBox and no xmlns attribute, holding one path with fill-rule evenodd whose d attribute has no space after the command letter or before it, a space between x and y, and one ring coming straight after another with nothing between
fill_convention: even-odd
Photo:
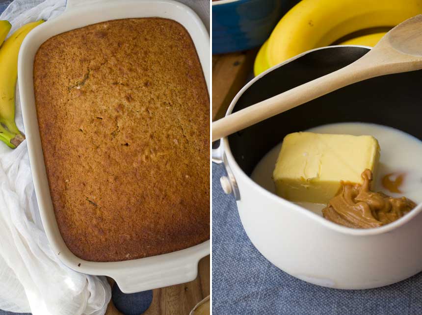
<instances>
[{"instance_id":1,"label":"white ceramic baking dish holding the brown cake","mask_svg":"<svg viewBox=\"0 0 422 315\"><path fill-rule=\"evenodd\" d=\"M33 61L40 45L50 37L108 20L141 17L172 19L187 29L198 53L210 93L210 37L199 17L172 0L68 0L65 12L31 31L24 40L18 63L18 81L29 160L38 206L50 245L68 267L91 275L113 278L125 293L192 281L198 262L210 253L210 241L173 253L125 262L87 262L65 245L57 227L44 165L33 91Z\"/></svg>"}]
</instances>

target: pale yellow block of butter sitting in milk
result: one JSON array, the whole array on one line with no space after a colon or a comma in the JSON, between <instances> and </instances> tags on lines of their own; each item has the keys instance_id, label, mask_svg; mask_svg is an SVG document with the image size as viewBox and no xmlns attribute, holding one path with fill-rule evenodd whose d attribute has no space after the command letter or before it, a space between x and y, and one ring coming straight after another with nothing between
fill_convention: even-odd
<instances>
[{"instance_id":1,"label":"pale yellow block of butter sitting in milk","mask_svg":"<svg viewBox=\"0 0 422 315\"><path fill-rule=\"evenodd\" d=\"M340 181L362 184L362 172L375 173L378 141L369 135L294 132L281 147L273 172L277 195L295 202L327 204Z\"/></svg>"}]
</instances>

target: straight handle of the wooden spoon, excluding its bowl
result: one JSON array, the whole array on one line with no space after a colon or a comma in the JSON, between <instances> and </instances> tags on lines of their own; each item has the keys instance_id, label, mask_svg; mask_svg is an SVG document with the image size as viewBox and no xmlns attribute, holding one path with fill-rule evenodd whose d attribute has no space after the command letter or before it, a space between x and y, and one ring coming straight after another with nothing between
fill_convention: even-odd
<instances>
[{"instance_id":1,"label":"straight handle of the wooden spoon, excluding its bowl","mask_svg":"<svg viewBox=\"0 0 422 315\"><path fill-rule=\"evenodd\" d=\"M299 85L213 122L212 141L252 126L293 107L312 101L343 86L385 74L382 67L377 67L376 65L371 67L364 57L342 69Z\"/></svg>"}]
</instances>

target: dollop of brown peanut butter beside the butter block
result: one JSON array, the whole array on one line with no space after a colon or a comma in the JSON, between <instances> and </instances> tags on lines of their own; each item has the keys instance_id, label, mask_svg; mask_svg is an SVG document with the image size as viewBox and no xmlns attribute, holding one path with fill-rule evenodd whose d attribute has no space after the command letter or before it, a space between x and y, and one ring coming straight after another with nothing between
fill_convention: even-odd
<instances>
[{"instance_id":1,"label":"dollop of brown peanut butter beside the butter block","mask_svg":"<svg viewBox=\"0 0 422 315\"><path fill-rule=\"evenodd\" d=\"M338 194L322 210L324 218L356 229L379 227L401 218L416 207L406 197L393 198L369 190L372 172L362 173L363 184L342 182Z\"/></svg>"}]
</instances>

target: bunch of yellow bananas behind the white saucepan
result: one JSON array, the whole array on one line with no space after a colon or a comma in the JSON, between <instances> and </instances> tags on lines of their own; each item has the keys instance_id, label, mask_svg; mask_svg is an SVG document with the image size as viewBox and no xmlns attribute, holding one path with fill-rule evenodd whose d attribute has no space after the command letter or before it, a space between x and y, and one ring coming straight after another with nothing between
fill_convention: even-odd
<instances>
[{"instance_id":1,"label":"bunch of yellow bananas behind the white saucepan","mask_svg":"<svg viewBox=\"0 0 422 315\"><path fill-rule=\"evenodd\" d=\"M279 21L261 47L257 76L299 53L324 47L348 34L394 27L422 13L422 0L302 0ZM366 34L340 45L374 46L385 32Z\"/></svg>"}]
</instances>

